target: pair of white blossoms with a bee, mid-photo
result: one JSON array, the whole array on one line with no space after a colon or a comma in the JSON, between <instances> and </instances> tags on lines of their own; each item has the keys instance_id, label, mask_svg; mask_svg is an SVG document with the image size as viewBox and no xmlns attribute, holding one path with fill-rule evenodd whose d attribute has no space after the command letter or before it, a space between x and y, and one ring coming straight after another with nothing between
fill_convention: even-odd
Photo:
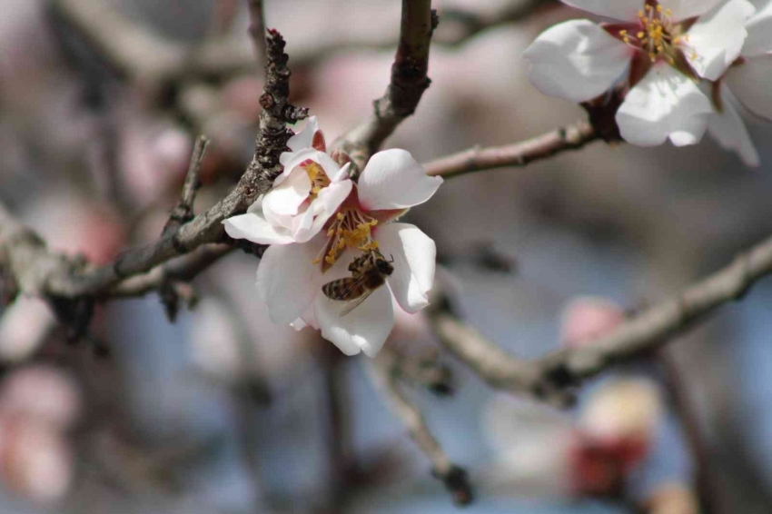
<instances>
[{"instance_id":1,"label":"pair of white blossoms with a bee, mid-photo","mask_svg":"<svg viewBox=\"0 0 772 514\"><path fill-rule=\"evenodd\" d=\"M354 180L346 156L326 152L315 117L287 144L271 191L225 220L225 231L270 245L257 291L274 323L311 326L343 353L372 357L393 327L392 299L410 313L429 304L434 242L396 220L442 179L391 149L372 155Z\"/></svg>"}]
</instances>

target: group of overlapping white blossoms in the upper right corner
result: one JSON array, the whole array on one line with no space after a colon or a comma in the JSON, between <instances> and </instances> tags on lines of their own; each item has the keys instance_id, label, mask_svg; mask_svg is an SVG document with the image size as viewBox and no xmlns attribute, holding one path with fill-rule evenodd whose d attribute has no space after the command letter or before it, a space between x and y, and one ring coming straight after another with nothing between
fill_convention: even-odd
<instances>
[{"instance_id":1,"label":"group of overlapping white blossoms in the upper right corner","mask_svg":"<svg viewBox=\"0 0 772 514\"><path fill-rule=\"evenodd\" d=\"M676 146L709 132L748 165L758 153L742 106L772 120L772 3L767 0L562 0L614 20L570 20L525 51L539 91L589 102L620 85L628 143Z\"/></svg>"}]
</instances>

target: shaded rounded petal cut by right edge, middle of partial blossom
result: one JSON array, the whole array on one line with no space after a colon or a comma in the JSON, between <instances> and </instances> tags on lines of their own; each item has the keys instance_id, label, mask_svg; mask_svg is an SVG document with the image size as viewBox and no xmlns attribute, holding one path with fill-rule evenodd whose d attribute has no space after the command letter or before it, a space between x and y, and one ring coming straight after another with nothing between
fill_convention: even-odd
<instances>
[{"instance_id":1,"label":"shaded rounded petal cut by right edge, middle of partial blossom","mask_svg":"<svg viewBox=\"0 0 772 514\"><path fill-rule=\"evenodd\" d=\"M757 55L732 66L724 80L748 111L772 121L772 54Z\"/></svg>"}]
</instances>

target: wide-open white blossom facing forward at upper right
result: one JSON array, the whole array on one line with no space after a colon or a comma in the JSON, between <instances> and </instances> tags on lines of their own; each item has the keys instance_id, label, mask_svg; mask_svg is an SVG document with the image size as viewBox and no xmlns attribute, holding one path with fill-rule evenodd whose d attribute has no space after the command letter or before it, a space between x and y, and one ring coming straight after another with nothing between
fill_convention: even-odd
<instances>
[{"instance_id":1,"label":"wide-open white blossom facing forward at upper right","mask_svg":"<svg viewBox=\"0 0 772 514\"><path fill-rule=\"evenodd\" d=\"M755 8L747 0L562 0L619 20L571 20L545 31L525 51L539 91L587 102L623 78L616 114L628 143L698 143L713 113L700 79L716 81L735 62ZM627 74L627 75L626 75Z\"/></svg>"}]
</instances>

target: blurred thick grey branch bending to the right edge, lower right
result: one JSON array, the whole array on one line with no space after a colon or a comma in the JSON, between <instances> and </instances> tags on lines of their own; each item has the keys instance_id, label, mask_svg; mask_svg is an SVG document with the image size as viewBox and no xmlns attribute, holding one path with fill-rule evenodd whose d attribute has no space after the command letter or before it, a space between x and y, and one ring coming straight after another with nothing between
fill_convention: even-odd
<instances>
[{"instance_id":1,"label":"blurred thick grey branch bending to the right edge, lower right","mask_svg":"<svg viewBox=\"0 0 772 514\"><path fill-rule=\"evenodd\" d=\"M726 268L695 283L675 298L640 311L607 335L579 348L566 348L526 361L500 349L450 313L448 301L435 301L430 317L440 341L491 387L525 391L565 402L566 391L619 361L654 351L718 307L743 297L772 273L772 237Z\"/></svg>"}]
</instances>

